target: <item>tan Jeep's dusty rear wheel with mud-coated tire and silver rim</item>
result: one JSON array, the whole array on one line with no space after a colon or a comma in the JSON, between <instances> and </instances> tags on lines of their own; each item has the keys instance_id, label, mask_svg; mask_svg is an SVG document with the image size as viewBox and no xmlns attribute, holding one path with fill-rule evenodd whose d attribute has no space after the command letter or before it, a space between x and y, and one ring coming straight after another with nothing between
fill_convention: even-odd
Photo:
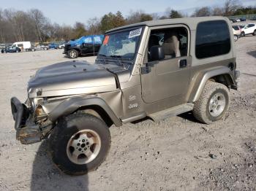
<instances>
[{"instance_id":1,"label":"tan Jeep's dusty rear wheel with mud-coated tire and silver rim","mask_svg":"<svg viewBox=\"0 0 256 191\"><path fill-rule=\"evenodd\" d=\"M224 116L229 104L230 92L227 87L217 82L208 81L199 100L195 101L192 112L200 122L211 124Z\"/></svg>"}]
</instances>

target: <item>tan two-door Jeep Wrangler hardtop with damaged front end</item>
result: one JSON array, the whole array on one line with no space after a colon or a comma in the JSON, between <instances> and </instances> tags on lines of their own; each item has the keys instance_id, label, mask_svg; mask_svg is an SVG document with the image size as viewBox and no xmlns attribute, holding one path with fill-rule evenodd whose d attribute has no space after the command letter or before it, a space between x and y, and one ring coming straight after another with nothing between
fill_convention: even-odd
<instances>
[{"instance_id":1,"label":"tan two-door Jeep Wrangler hardtop with damaged front end","mask_svg":"<svg viewBox=\"0 0 256 191\"><path fill-rule=\"evenodd\" d=\"M237 90L233 31L225 17L154 20L108 31L95 64L39 69L28 99L11 99L17 139L48 138L53 162L67 174L97 168L110 149L111 125L192 111L220 120Z\"/></svg>"}]
</instances>

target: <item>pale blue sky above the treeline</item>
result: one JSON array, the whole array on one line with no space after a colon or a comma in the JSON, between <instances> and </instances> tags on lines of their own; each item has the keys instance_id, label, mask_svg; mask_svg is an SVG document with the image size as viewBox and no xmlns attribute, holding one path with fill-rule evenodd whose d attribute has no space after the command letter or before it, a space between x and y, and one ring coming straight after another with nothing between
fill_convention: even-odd
<instances>
[{"instance_id":1,"label":"pale blue sky above the treeline","mask_svg":"<svg viewBox=\"0 0 256 191\"><path fill-rule=\"evenodd\" d=\"M167 7L191 15L197 7L222 5L224 0L0 0L0 9L40 9L52 23L73 25L86 23L91 17L102 17L118 10L124 16L131 10L142 9L146 13L165 12ZM244 6L256 6L256 0L240 0Z\"/></svg>"}]
</instances>

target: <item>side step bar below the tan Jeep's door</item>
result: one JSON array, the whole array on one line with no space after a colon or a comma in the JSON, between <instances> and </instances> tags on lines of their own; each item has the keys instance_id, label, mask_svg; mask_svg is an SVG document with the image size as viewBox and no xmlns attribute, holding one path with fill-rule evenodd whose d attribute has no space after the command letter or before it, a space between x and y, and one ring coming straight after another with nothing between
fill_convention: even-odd
<instances>
[{"instance_id":1,"label":"side step bar below the tan Jeep's door","mask_svg":"<svg viewBox=\"0 0 256 191\"><path fill-rule=\"evenodd\" d=\"M151 119L154 121L159 121L159 120L166 119L168 117L174 117L178 114L192 111L193 107L194 107L194 104L192 103L182 104L179 106L174 106L172 108L162 110L160 112L156 112L154 114L149 114L148 117L151 117Z\"/></svg>"}]
</instances>

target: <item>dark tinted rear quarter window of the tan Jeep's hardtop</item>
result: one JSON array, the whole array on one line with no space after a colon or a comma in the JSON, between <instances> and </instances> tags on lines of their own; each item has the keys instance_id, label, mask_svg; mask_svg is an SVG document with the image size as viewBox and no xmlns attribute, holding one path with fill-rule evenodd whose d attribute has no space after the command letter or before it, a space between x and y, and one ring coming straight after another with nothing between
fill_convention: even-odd
<instances>
[{"instance_id":1,"label":"dark tinted rear quarter window of the tan Jeep's hardtop","mask_svg":"<svg viewBox=\"0 0 256 191\"><path fill-rule=\"evenodd\" d=\"M198 23L195 55L210 58L230 52L230 31L225 20L211 20Z\"/></svg>"}]
</instances>

